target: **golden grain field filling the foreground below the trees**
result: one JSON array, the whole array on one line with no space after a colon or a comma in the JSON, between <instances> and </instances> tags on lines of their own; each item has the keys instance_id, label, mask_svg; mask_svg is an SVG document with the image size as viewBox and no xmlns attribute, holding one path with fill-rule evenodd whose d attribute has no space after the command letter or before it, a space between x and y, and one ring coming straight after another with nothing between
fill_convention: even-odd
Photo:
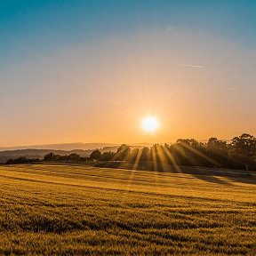
<instances>
[{"instance_id":1,"label":"golden grain field filling the foreground below the trees","mask_svg":"<svg viewBox=\"0 0 256 256\"><path fill-rule=\"evenodd\" d=\"M202 173L2 165L0 255L255 255L255 176Z\"/></svg>"}]
</instances>

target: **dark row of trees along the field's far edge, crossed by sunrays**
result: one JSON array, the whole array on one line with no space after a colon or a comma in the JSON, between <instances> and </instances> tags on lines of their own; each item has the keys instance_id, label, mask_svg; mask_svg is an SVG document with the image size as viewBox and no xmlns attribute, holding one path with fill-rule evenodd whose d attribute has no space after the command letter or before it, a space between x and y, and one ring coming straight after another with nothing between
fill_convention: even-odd
<instances>
[{"instance_id":1,"label":"dark row of trees along the field's far edge, crossed by sunrays","mask_svg":"<svg viewBox=\"0 0 256 256\"><path fill-rule=\"evenodd\" d=\"M19 157L9 159L5 164L26 164L38 162L39 159ZM134 165L147 163L189 165L204 167L222 167L231 169L256 170L256 138L244 133L226 140L211 138L207 142L194 139L179 139L172 144L155 144L151 148L131 148L122 144L116 152L92 151L88 157L76 153L60 156L49 153L44 156L44 162L126 162Z\"/></svg>"}]
</instances>

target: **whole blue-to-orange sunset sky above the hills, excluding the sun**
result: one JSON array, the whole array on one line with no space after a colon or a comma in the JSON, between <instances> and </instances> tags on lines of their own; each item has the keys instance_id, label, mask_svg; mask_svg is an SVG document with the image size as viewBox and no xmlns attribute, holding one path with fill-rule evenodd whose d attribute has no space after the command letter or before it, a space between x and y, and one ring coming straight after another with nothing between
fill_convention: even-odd
<instances>
[{"instance_id":1,"label":"whole blue-to-orange sunset sky above the hills, excluding the sun","mask_svg":"<svg viewBox=\"0 0 256 256\"><path fill-rule=\"evenodd\" d=\"M256 1L0 0L0 146L256 133ZM156 116L145 132L141 118Z\"/></svg>"}]
</instances>

